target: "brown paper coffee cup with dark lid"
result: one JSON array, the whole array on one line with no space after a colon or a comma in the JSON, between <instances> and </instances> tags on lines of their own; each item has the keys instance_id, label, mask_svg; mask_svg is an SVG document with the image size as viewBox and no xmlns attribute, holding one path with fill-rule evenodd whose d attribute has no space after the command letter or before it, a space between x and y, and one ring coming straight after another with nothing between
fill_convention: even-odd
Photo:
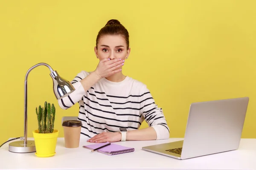
<instances>
[{"instance_id":1,"label":"brown paper coffee cup with dark lid","mask_svg":"<svg viewBox=\"0 0 256 170\"><path fill-rule=\"evenodd\" d=\"M65 120L62 126L64 128L65 147L79 147L82 122L80 120Z\"/></svg>"}]
</instances>

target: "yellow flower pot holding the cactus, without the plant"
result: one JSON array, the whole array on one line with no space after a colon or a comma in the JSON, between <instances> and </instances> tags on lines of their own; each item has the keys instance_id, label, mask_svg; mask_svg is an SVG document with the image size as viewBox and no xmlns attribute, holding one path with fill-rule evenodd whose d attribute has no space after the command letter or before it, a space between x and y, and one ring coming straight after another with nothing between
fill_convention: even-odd
<instances>
[{"instance_id":1,"label":"yellow flower pot holding the cactus, without the plant","mask_svg":"<svg viewBox=\"0 0 256 170\"><path fill-rule=\"evenodd\" d=\"M53 133L39 133L38 130L34 130L35 155L38 157L54 156L58 134L58 130L53 130Z\"/></svg>"}]
</instances>

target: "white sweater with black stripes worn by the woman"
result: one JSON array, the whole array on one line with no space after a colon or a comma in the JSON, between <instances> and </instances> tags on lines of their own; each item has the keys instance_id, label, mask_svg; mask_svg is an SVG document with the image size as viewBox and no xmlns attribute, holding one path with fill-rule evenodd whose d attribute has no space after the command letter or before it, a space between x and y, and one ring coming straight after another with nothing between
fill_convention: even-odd
<instances>
[{"instance_id":1,"label":"white sweater with black stripes worn by the woman","mask_svg":"<svg viewBox=\"0 0 256 170\"><path fill-rule=\"evenodd\" d=\"M146 85L128 76L122 82L102 78L84 91L80 80L87 75L86 71L77 74L71 81L76 90L58 100L62 109L79 102L81 134L93 137L102 132L119 132L120 127L136 130L145 120L148 126L154 127L157 139L169 138L163 110L157 107Z\"/></svg>"}]
</instances>

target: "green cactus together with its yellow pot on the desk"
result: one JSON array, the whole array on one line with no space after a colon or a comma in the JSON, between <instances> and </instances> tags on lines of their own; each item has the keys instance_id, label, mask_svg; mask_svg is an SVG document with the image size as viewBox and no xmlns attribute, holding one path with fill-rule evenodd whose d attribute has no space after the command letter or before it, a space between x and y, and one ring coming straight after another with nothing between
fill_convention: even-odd
<instances>
[{"instance_id":1,"label":"green cactus together with its yellow pot on the desk","mask_svg":"<svg viewBox=\"0 0 256 170\"><path fill-rule=\"evenodd\" d=\"M35 155L38 157L50 157L55 155L55 148L59 131L54 129L55 106L44 102L35 108L38 119L38 129L33 131L35 140Z\"/></svg>"}]
</instances>

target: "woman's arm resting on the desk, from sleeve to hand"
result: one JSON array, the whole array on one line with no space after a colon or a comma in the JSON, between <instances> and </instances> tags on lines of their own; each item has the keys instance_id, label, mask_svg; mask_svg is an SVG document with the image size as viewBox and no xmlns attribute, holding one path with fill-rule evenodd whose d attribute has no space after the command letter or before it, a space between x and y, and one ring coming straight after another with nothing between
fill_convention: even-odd
<instances>
[{"instance_id":1,"label":"woman's arm resting on the desk, from sleeve to hand","mask_svg":"<svg viewBox=\"0 0 256 170\"><path fill-rule=\"evenodd\" d=\"M169 139L170 132L162 108L159 108L145 87L141 96L140 114L144 117L149 127L138 130L128 130L126 140L159 140ZM88 142L116 142L121 140L120 132L103 132Z\"/></svg>"}]
</instances>

